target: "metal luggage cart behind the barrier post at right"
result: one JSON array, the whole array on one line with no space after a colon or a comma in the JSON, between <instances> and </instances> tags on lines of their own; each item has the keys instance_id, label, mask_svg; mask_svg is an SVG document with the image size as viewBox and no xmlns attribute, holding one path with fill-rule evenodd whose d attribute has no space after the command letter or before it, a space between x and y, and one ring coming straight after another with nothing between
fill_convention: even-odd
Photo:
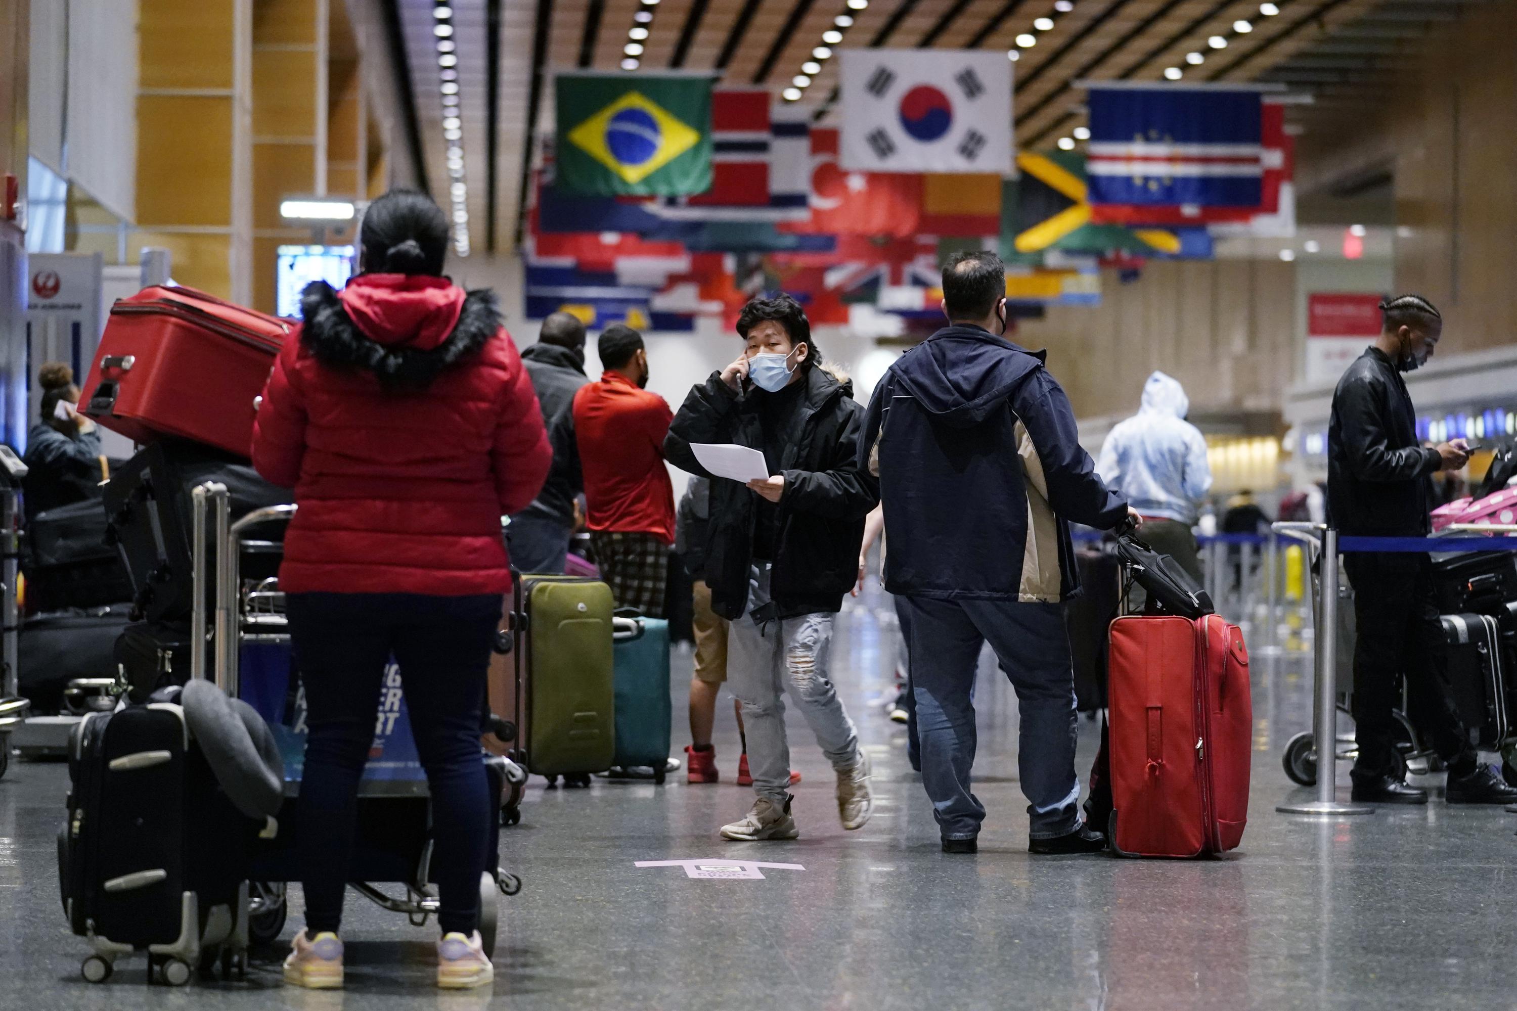
<instances>
[{"instance_id":1,"label":"metal luggage cart behind the barrier post at right","mask_svg":"<svg viewBox=\"0 0 1517 1011\"><path fill-rule=\"evenodd\" d=\"M1321 579L1321 541L1315 534L1297 529L1303 524L1296 523L1277 523L1274 526L1280 537L1300 541L1306 544L1308 559L1306 567L1311 573L1312 581L1312 615L1315 624L1321 629L1323 624L1323 579ZM1333 559L1335 564L1338 559ZM1333 679L1336 682L1336 690L1333 693L1335 711L1343 715L1353 715L1353 693L1346 685L1353 685L1353 640L1355 640L1355 620L1353 620L1353 587L1340 573L1336 579L1338 588L1338 606L1333 608L1335 614L1335 634L1338 640L1338 649L1335 650L1333 662ZM1318 640L1321 632L1318 632ZM1443 765L1438 755L1432 750L1432 746L1423 740L1412 726L1412 721L1406 717L1406 702L1405 702L1405 685L1402 688L1402 706L1399 709L1391 709L1391 715L1396 725L1400 728L1400 735L1397 737L1396 747L1402 755L1403 765L1415 773L1438 772ZM1333 741L1333 753L1340 759L1355 759L1359 756L1358 744L1352 732L1336 734ZM1280 753L1280 765L1285 768L1285 775L1291 782L1300 787L1315 787L1317 785L1317 735L1312 731L1302 731L1285 743L1285 750Z\"/></svg>"}]
</instances>

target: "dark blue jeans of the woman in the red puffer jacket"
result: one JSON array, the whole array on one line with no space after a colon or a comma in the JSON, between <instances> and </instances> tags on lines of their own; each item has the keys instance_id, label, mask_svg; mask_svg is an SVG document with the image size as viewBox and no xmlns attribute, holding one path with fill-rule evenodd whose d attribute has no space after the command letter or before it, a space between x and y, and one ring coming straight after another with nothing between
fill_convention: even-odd
<instances>
[{"instance_id":1,"label":"dark blue jeans of the woman in the red puffer jacket","mask_svg":"<svg viewBox=\"0 0 1517 1011\"><path fill-rule=\"evenodd\" d=\"M472 934L495 817L479 726L501 597L299 593L285 609L309 729L297 806L306 929L316 937L341 925L358 781L394 656L432 794L437 920L444 934Z\"/></svg>"}]
</instances>

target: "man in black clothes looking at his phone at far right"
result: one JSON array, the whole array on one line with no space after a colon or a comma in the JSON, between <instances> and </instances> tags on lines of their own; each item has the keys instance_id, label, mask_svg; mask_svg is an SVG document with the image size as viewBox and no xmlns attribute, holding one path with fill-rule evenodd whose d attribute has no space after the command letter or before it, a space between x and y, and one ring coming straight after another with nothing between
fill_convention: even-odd
<instances>
[{"instance_id":1,"label":"man in black clothes looking at his phone at far right","mask_svg":"<svg viewBox=\"0 0 1517 1011\"><path fill-rule=\"evenodd\" d=\"M1443 335L1443 317L1418 296L1380 303L1384 326L1338 380L1327 426L1327 515L1346 537L1426 537L1431 476L1459 470L1464 440L1417 443L1417 415L1400 373L1423 365ZM1434 597L1432 562L1417 553L1344 555L1355 588L1353 721L1359 756L1353 799L1427 803L1406 784L1396 750L1391 708L1405 675L1414 720L1449 767L1449 803L1512 803L1517 790L1476 761L1449 696L1444 637Z\"/></svg>"}]
</instances>

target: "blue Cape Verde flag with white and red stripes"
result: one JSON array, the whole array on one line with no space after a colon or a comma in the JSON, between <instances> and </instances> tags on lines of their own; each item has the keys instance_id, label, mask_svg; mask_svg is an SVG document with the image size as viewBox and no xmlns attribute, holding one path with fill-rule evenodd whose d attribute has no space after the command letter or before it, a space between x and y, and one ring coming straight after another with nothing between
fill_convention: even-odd
<instances>
[{"instance_id":1,"label":"blue Cape Verde flag with white and red stripes","mask_svg":"<svg viewBox=\"0 0 1517 1011\"><path fill-rule=\"evenodd\" d=\"M1091 88L1089 200L1258 208L1258 91Z\"/></svg>"}]
</instances>

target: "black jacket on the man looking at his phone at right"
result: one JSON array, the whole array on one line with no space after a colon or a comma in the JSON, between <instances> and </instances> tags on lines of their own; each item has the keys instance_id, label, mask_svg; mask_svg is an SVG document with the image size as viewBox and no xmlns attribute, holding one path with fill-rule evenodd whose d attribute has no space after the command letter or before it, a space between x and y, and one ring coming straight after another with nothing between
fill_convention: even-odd
<instances>
[{"instance_id":1,"label":"black jacket on the man looking at his phone at right","mask_svg":"<svg viewBox=\"0 0 1517 1011\"><path fill-rule=\"evenodd\" d=\"M1327 423L1327 517L1350 537L1420 537L1432 529L1443 459L1417 443L1412 397L1391 359L1365 349L1338 380Z\"/></svg>"}]
</instances>

